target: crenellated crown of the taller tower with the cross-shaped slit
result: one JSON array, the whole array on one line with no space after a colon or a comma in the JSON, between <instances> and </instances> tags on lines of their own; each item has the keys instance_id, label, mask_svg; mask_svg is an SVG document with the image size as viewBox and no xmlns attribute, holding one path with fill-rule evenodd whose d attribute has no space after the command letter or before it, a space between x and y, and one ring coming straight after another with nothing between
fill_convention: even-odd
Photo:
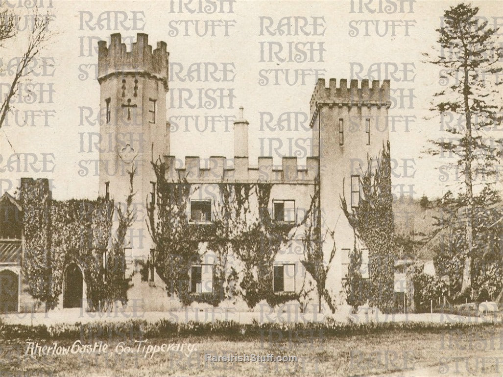
<instances>
[{"instance_id":1,"label":"crenellated crown of the taller tower with the cross-shaped slit","mask_svg":"<svg viewBox=\"0 0 503 377\"><path fill-rule=\"evenodd\" d=\"M157 48L152 51L148 44L148 35L136 34L136 42L131 51L127 51L122 43L120 33L110 35L110 46L106 41L98 42L98 82L110 75L134 72L146 74L162 81L167 90L168 57L166 42L157 42Z\"/></svg>"}]
</instances>

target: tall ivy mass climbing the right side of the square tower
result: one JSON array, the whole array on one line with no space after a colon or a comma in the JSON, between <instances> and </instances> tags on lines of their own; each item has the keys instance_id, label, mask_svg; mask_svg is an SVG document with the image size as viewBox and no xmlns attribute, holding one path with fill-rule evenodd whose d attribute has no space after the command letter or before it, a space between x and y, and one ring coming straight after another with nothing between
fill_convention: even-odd
<instances>
[{"instance_id":1,"label":"tall ivy mass climbing the right side of the square tower","mask_svg":"<svg viewBox=\"0 0 503 377\"><path fill-rule=\"evenodd\" d=\"M383 145L379 157L368 159L361 191L363 197L356 208L341 198L341 207L355 234L346 276L347 302L353 307L368 303L387 313L393 309L395 248L389 142ZM362 260L356 237L369 249L369 279L363 279L360 273Z\"/></svg>"}]
</instances>

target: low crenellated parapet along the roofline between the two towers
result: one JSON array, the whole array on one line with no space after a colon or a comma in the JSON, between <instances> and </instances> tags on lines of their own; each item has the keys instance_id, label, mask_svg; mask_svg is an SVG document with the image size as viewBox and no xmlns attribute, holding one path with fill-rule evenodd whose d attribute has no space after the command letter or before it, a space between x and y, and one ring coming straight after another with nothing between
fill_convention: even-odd
<instances>
[{"instance_id":1,"label":"low crenellated parapet along the roofline between the two towers","mask_svg":"<svg viewBox=\"0 0 503 377\"><path fill-rule=\"evenodd\" d=\"M273 165L272 157L259 157L258 166L249 166L248 157L212 156L201 168L197 156L185 157L185 165L175 156L164 156L165 178L169 182L189 183L282 183L314 184L318 174L318 158L307 157L306 165L297 165L297 157L283 157L281 166ZM178 165L178 166L177 166Z\"/></svg>"}]
</instances>

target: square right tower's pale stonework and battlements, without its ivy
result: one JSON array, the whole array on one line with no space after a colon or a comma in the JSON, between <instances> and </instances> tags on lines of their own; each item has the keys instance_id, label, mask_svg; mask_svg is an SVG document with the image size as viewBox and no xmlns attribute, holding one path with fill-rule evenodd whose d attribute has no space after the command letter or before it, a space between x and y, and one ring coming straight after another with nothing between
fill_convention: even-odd
<instances>
[{"instance_id":1,"label":"square right tower's pale stonework and battlements, without its ivy","mask_svg":"<svg viewBox=\"0 0 503 377\"><path fill-rule=\"evenodd\" d=\"M313 154L319 157L319 184L323 253L327 259L335 242L336 254L327 277L327 288L342 300L343 279L349 267L349 253L355 247L355 234L341 208L345 197L349 210L357 207L362 196L361 179L369 159L380 155L389 141L388 109L391 105L389 80L319 79L310 101ZM362 259L367 246L356 240ZM367 274L364 274L366 277Z\"/></svg>"}]
</instances>

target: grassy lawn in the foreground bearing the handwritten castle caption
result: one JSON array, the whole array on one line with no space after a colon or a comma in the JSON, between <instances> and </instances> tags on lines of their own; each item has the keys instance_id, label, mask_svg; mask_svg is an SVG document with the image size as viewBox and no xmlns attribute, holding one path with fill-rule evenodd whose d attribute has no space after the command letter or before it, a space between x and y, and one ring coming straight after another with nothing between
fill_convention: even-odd
<instances>
[{"instance_id":1,"label":"grassy lawn in the foreground bearing the handwritten castle caption","mask_svg":"<svg viewBox=\"0 0 503 377\"><path fill-rule=\"evenodd\" d=\"M323 333L281 333L243 340L242 334L103 340L107 352L26 355L27 342L0 340L0 375L51 376L362 376L362 375L501 375L503 327L375 331L324 336ZM133 339L137 339L134 337ZM36 342L36 341L35 341ZM39 345L73 346L74 340L39 340ZM83 343L93 344L94 340ZM139 352L138 351L139 344ZM163 351L145 353L148 345ZM171 345L170 345L171 344ZM176 350L176 344L180 349ZM182 345L185 344L185 345ZM172 346L175 345L175 348ZM125 353L126 347L130 353ZM170 349L167 349L170 347ZM195 348L192 348L195 347ZM152 347L153 348L153 347ZM30 349L33 349L30 348ZM78 349L77 346L74 348ZM88 350L89 351L89 350ZM190 352L192 351L192 352ZM206 354L268 354L297 356L296 362L212 362ZM501 356L501 357L500 357ZM421 374L414 374L421 373Z\"/></svg>"}]
</instances>

